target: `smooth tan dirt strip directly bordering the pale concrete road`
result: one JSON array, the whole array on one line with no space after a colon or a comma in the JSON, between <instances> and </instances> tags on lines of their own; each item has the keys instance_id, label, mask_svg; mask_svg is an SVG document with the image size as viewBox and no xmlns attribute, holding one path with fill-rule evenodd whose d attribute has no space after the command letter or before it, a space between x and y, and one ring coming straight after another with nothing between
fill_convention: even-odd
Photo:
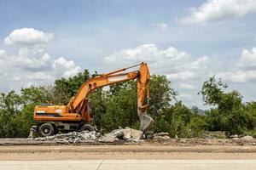
<instances>
[{"instance_id":1,"label":"smooth tan dirt strip directly bordering the pale concrete road","mask_svg":"<svg viewBox=\"0 0 256 170\"><path fill-rule=\"evenodd\" d=\"M255 160L256 146L156 146L152 144L0 146L0 161L106 159Z\"/></svg>"}]
</instances>

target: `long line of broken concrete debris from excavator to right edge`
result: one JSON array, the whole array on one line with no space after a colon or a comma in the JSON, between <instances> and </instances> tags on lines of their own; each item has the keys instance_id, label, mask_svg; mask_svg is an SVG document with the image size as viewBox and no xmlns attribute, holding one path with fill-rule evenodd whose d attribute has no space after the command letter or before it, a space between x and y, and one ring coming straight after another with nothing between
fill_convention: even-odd
<instances>
[{"instance_id":1,"label":"long line of broken concrete debris from excavator to right edge","mask_svg":"<svg viewBox=\"0 0 256 170\"><path fill-rule=\"evenodd\" d=\"M221 133L214 133L214 135ZM223 133L222 133L223 134ZM148 138L149 136L149 138ZM147 139L147 140L144 140ZM216 137L201 138L201 139L180 139L171 138L169 133L153 133L147 131L143 133L140 130L136 130L130 127L115 129L110 133L102 135L96 133L96 131L83 131L72 133L61 133L54 136L39 137L31 139L37 142L50 142L53 144L137 144L137 143L156 143L156 144L173 144L173 145L195 145L195 144L239 144L239 145L256 145L256 139L252 136L245 135L232 135L230 139L218 139ZM32 142L31 141L31 142Z\"/></svg>"}]
</instances>

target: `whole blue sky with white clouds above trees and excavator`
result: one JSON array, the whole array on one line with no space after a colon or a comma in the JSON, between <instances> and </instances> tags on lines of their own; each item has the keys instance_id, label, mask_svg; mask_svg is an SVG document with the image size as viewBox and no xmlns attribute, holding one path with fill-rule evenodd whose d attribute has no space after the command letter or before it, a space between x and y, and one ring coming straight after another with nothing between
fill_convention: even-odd
<instances>
[{"instance_id":1,"label":"whole blue sky with white clouds above trees and excavator","mask_svg":"<svg viewBox=\"0 0 256 170\"><path fill-rule=\"evenodd\" d=\"M147 62L189 106L216 75L256 99L256 0L0 0L0 92Z\"/></svg>"}]
</instances>

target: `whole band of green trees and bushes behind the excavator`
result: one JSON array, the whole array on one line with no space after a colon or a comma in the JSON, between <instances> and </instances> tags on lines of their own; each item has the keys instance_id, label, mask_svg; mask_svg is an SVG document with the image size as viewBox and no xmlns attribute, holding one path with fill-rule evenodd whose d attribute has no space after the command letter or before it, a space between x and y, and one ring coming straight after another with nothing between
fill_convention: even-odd
<instances>
[{"instance_id":1,"label":"whole band of green trees and bushes behind the excavator","mask_svg":"<svg viewBox=\"0 0 256 170\"><path fill-rule=\"evenodd\" d=\"M27 137L33 122L33 109L42 103L67 105L80 85L96 76L85 70L75 77L56 80L53 86L21 88L20 93L0 94L0 137ZM189 109L176 100L177 93L165 76L150 77L148 114L154 118L154 132L168 132L172 137L201 137L205 131L224 131L228 135L247 133L256 136L256 102L242 103L239 92L225 92L221 80L210 77L201 92L205 105L211 109ZM137 117L136 82L112 85L108 90L99 88L90 94L94 124L101 132L118 127L139 127ZM174 103L171 105L171 103Z\"/></svg>"}]
</instances>

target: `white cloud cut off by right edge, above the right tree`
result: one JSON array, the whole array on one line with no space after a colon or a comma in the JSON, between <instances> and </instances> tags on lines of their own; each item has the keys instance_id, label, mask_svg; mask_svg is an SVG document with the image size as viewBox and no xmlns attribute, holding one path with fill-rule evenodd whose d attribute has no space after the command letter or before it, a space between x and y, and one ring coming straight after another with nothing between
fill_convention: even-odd
<instances>
[{"instance_id":1,"label":"white cloud cut off by right edge, above the right tree","mask_svg":"<svg viewBox=\"0 0 256 170\"><path fill-rule=\"evenodd\" d=\"M230 82L252 82L256 81L256 48L251 51L244 49L241 58L236 62L234 71L223 71L217 74L224 80Z\"/></svg>"}]
</instances>

